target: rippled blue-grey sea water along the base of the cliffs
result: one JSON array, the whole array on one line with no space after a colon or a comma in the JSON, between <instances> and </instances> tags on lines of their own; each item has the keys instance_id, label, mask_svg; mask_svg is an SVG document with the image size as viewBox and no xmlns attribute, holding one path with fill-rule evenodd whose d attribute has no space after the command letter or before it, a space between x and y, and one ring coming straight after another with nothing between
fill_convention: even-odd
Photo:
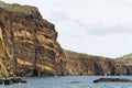
<instances>
[{"instance_id":1,"label":"rippled blue-grey sea water along the base of the cliffs","mask_svg":"<svg viewBox=\"0 0 132 88\"><path fill-rule=\"evenodd\" d=\"M101 78L127 78L131 76L58 76L58 77L28 77L22 78L28 84L15 84L10 86L0 86L0 88L132 88L132 82L99 82L92 80Z\"/></svg>"}]
</instances>

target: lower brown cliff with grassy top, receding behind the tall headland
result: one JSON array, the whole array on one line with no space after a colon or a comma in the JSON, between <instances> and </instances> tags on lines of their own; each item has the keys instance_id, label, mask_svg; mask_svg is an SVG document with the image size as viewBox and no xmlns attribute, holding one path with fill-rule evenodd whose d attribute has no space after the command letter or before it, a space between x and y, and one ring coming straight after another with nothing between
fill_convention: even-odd
<instances>
[{"instance_id":1,"label":"lower brown cliff with grassy top, receding behind the tall headland","mask_svg":"<svg viewBox=\"0 0 132 88\"><path fill-rule=\"evenodd\" d=\"M127 75L125 67L114 59L65 51L68 75Z\"/></svg>"}]
</instances>

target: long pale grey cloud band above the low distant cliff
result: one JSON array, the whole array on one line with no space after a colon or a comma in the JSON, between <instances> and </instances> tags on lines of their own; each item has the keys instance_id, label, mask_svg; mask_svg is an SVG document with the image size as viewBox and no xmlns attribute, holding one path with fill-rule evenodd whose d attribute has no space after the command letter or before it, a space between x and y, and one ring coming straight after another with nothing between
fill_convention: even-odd
<instances>
[{"instance_id":1,"label":"long pale grey cloud band above the low distant cliff","mask_svg":"<svg viewBox=\"0 0 132 88\"><path fill-rule=\"evenodd\" d=\"M85 24L81 21L76 21L76 23L85 29L88 35L108 35L108 34L132 34L132 26L124 24L109 25L105 26L101 23L96 25Z\"/></svg>"}]
</instances>

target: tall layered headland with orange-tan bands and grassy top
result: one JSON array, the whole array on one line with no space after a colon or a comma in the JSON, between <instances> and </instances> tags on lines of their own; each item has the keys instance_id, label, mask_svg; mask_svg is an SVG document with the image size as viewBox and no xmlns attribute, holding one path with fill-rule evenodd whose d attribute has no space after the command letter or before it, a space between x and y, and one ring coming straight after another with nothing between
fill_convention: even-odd
<instances>
[{"instance_id":1,"label":"tall layered headland with orange-tan bands and grassy top","mask_svg":"<svg viewBox=\"0 0 132 88\"><path fill-rule=\"evenodd\" d=\"M36 8L0 2L0 58L6 63L1 59L0 67L11 72L7 76L59 75L63 52L56 37L54 24Z\"/></svg>"}]
</instances>

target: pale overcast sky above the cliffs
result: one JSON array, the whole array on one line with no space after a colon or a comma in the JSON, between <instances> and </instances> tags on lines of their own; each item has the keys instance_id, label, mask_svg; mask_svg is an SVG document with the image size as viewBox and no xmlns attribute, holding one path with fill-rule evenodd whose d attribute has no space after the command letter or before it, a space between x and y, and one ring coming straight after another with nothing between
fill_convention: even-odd
<instances>
[{"instance_id":1,"label":"pale overcast sky above the cliffs","mask_svg":"<svg viewBox=\"0 0 132 88\"><path fill-rule=\"evenodd\" d=\"M2 0L38 8L65 50L106 57L132 53L132 0Z\"/></svg>"}]
</instances>

